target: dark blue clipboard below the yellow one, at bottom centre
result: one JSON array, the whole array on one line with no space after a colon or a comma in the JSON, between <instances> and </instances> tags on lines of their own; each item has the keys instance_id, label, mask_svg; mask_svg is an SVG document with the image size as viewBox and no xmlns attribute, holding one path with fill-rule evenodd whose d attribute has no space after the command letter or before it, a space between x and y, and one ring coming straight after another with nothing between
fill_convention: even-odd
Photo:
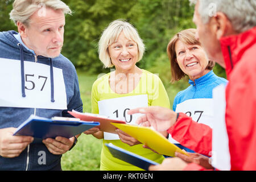
<instances>
[{"instance_id":1,"label":"dark blue clipboard below the yellow one, at bottom centre","mask_svg":"<svg viewBox=\"0 0 256 182\"><path fill-rule=\"evenodd\" d=\"M130 152L130 151L124 150L123 148L114 146L114 144L112 144L112 143L105 143L105 145L109 148L110 153L115 158L121 159L129 164L132 164L134 166L142 168L146 171L148 170L148 167L150 167L151 165L159 164L150 159L143 158L142 156L134 154L133 152Z\"/></svg>"}]
</instances>

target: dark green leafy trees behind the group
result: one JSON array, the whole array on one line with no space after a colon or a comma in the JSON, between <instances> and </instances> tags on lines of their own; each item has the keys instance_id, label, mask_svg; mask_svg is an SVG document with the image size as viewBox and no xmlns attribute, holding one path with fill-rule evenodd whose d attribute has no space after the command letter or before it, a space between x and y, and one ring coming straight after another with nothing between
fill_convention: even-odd
<instances>
[{"instance_id":1,"label":"dark green leafy trees behind the group","mask_svg":"<svg viewBox=\"0 0 256 182\"><path fill-rule=\"evenodd\" d=\"M63 55L77 69L95 75L109 72L98 59L101 33L115 19L126 19L138 30L146 46L138 66L159 73L164 85L171 79L166 54L168 41L185 28L195 28L193 7L188 0L63 0L73 11L66 16ZM16 30L9 19L13 0L0 0L0 31ZM214 68L225 77L224 69ZM184 83L181 81L181 85ZM179 85L179 84L178 84ZM181 86L182 87L182 86Z\"/></svg>"}]
</instances>

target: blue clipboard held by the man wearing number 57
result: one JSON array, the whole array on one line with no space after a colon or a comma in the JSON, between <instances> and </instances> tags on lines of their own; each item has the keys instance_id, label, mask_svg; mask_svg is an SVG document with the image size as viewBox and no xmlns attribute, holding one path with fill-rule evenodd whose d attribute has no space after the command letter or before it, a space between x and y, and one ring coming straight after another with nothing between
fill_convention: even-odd
<instances>
[{"instance_id":1,"label":"blue clipboard held by the man wearing number 57","mask_svg":"<svg viewBox=\"0 0 256 182\"><path fill-rule=\"evenodd\" d=\"M56 118L56 119L55 119ZM71 138L92 127L98 122L79 121L76 118L55 117L52 119L31 115L15 131L13 135L31 136L35 138Z\"/></svg>"}]
</instances>

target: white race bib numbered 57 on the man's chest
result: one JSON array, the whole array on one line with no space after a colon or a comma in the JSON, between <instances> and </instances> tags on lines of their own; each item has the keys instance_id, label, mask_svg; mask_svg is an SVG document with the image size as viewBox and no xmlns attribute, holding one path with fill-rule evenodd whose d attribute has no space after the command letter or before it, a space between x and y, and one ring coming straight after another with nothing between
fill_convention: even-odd
<instances>
[{"instance_id":1,"label":"white race bib numbered 57 on the man's chest","mask_svg":"<svg viewBox=\"0 0 256 182\"><path fill-rule=\"evenodd\" d=\"M53 67L55 102L51 102L51 77L49 65L24 61L26 97L22 97L20 75L19 60L0 58L1 107L67 109L67 96L62 69Z\"/></svg>"}]
</instances>

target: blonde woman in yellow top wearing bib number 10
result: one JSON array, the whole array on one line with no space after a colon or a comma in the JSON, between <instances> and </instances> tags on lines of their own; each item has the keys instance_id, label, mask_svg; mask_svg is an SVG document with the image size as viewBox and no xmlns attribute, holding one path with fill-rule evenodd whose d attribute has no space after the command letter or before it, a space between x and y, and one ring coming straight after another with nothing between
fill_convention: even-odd
<instances>
[{"instance_id":1,"label":"blonde woman in yellow top wearing bib number 10","mask_svg":"<svg viewBox=\"0 0 256 182\"><path fill-rule=\"evenodd\" d=\"M160 78L136 65L143 57L144 44L137 30L130 23L124 20L114 20L110 23L101 35L98 53L106 68L114 67L115 69L94 82L92 113L125 119L127 124L135 124L139 115L126 114L130 109L151 105L170 107ZM90 131L85 133L92 134ZM117 134L102 131L93 134L94 137L103 139L101 170L141 170L114 158L105 143L113 143L115 146L162 163L164 159L162 155L143 148L140 142L121 130L116 131Z\"/></svg>"}]
</instances>

